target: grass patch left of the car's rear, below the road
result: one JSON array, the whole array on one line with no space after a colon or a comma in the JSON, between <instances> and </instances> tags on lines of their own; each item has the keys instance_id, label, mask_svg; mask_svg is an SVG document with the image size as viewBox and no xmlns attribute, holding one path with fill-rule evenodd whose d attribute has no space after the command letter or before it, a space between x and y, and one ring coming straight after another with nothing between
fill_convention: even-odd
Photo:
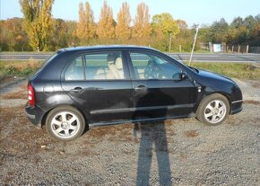
<instances>
[{"instance_id":1,"label":"grass patch left of the car's rear, below the road","mask_svg":"<svg viewBox=\"0 0 260 186\"><path fill-rule=\"evenodd\" d=\"M38 60L29 61L1 61L0 60L0 81L4 81L13 76L29 76L36 72L42 62Z\"/></svg>"}]
</instances>

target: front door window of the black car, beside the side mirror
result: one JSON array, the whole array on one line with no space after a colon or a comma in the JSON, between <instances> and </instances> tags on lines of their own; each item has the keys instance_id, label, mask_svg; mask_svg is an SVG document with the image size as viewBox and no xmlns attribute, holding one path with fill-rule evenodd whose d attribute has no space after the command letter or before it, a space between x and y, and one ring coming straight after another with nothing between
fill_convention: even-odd
<instances>
[{"instance_id":1,"label":"front door window of the black car, beside the side mirror","mask_svg":"<svg viewBox=\"0 0 260 186\"><path fill-rule=\"evenodd\" d=\"M136 79L180 79L181 70L174 63L153 54L130 53Z\"/></svg>"}]
</instances>

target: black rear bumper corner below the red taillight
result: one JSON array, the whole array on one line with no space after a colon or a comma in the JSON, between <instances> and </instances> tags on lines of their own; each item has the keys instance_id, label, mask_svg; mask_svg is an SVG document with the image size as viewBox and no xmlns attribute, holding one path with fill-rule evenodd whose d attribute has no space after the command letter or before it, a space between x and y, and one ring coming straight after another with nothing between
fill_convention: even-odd
<instances>
[{"instance_id":1,"label":"black rear bumper corner below the red taillight","mask_svg":"<svg viewBox=\"0 0 260 186\"><path fill-rule=\"evenodd\" d=\"M25 111L28 119L30 122L35 126L41 126L43 116L45 114L45 111L40 109L37 105L34 107L31 107L29 103L26 103Z\"/></svg>"}]
</instances>

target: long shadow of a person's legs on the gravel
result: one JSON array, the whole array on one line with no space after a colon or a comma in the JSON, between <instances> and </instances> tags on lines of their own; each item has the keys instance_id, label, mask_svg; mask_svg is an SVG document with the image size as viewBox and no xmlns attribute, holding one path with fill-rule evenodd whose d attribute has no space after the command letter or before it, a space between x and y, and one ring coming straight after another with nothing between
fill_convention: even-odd
<instances>
[{"instance_id":1,"label":"long shadow of a person's legs on the gravel","mask_svg":"<svg viewBox=\"0 0 260 186\"><path fill-rule=\"evenodd\" d=\"M164 121L134 124L134 134L136 133L141 135L136 185L150 185L153 155L157 158L160 185L172 185Z\"/></svg>"}]
</instances>

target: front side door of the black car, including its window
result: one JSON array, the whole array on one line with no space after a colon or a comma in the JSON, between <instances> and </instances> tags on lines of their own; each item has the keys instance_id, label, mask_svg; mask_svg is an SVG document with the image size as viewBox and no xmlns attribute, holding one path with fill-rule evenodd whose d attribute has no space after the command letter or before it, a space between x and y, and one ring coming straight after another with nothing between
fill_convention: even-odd
<instances>
[{"instance_id":1,"label":"front side door of the black car, including its window","mask_svg":"<svg viewBox=\"0 0 260 186\"><path fill-rule=\"evenodd\" d=\"M130 51L134 120L175 118L191 114L195 85L174 61L147 51Z\"/></svg>"}]
</instances>

